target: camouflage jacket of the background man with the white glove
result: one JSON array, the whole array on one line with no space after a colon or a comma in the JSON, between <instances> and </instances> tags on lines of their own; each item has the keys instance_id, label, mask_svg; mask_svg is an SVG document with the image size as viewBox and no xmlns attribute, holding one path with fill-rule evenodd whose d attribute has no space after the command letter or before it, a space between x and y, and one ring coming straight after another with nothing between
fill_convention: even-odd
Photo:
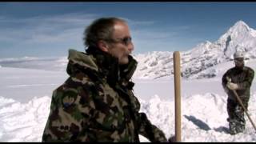
<instances>
[{"instance_id":1,"label":"camouflage jacket of the background man with the white glove","mask_svg":"<svg viewBox=\"0 0 256 144\"><path fill-rule=\"evenodd\" d=\"M247 66L244 66L242 69L233 67L230 70L227 70L222 77L222 86L224 89L228 89L226 87L226 77L231 78L231 82L238 84L238 90L236 91L238 93L239 98L250 98L250 86L254 79L254 70ZM232 90L228 90L227 94L230 99L236 101L235 95L232 92Z\"/></svg>"}]
</instances>

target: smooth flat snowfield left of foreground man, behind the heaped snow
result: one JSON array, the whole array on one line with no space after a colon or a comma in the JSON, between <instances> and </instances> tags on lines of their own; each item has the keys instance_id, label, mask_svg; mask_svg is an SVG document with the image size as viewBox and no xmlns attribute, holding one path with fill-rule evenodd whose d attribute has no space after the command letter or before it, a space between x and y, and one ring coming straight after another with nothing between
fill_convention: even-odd
<instances>
[{"instance_id":1,"label":"smooth flat snowfield left of foreground man, behind the heaped snow","mask_svg":"<svg viewBox=\"0 0 256 144\"><path fill-rule=\"evenodd\" d=\"M2 67L0 70L0 96L28 102L35 96L50 95L61 85L67 74L59 71L31 70Z\"/></svg>"}]
</instances>

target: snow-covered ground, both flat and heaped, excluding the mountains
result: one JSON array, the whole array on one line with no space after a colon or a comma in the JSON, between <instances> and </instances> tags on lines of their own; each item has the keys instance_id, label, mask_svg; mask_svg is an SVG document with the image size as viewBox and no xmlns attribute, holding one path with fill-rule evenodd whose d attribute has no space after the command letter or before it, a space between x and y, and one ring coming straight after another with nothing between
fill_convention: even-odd
<instances>
[{"instance_id":1,"label":"snow-covered ground, both flat and heaped, excluding the mountains","mask_svg":"<svg viewBox=\"0 0 256 144\"><path fill-rule=\"evenodd\" d=\"M256 68L256 62L246 64ZM226 133L226 94L220 78L232 63L218 66L216 78L182 78L182 142L256 142L255 131L246 117L242 134ZM51 92L67 75L59 71L2 67L0 70L0 142L41 142L50 112ZM166 137L174 135L174 79L133 78L134 94L154 125ZM17 94L17 95L15 95ZM251 87L248 111L256 119L256 87ZM148 142L140 136L142 142Z\"/></svg>"}]
</instances>

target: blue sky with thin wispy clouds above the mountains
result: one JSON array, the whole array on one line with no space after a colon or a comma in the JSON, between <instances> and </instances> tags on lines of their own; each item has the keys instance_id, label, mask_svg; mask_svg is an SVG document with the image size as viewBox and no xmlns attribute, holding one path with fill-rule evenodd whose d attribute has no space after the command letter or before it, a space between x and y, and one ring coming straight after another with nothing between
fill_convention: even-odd
<instances>
[{"instance_id":1,"label":"blue sky with thin wispy clouds above the mountains","mask_svg":"<svg viewBox=\"0 0 256 144\"><path fill-rule=\"evenodd\" d=\"M190 50L242 20L256 29L256 2L0 2L0 58L83 51L95 18L125 18L134 54Z\"/></svg>"}]
</instances>

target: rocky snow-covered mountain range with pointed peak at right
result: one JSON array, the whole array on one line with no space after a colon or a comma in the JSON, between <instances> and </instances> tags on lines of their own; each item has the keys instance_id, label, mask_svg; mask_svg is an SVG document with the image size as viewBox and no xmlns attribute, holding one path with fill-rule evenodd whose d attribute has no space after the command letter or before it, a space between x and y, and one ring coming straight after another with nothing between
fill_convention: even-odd
<instances>
[{"instance_id":1,"label":"rocky snow-covered mountain range with pointed peak at right","mask_svg":"<svg viewBox=\"0 0 256 144\"><path fill-rule=\"evenodd\" d=\"M211 66L233 59L236 50L246 52L246 60L256 58L256 30L238 21L216 42L203 42L191 50L180 52L183 78L211 78L215 74L200 74ZM134 55L138 59L135 78L160 78L173 74L173 52L150 52ZM197 75L194 77L194 75Z\"/></svg>"}]
</instances>

